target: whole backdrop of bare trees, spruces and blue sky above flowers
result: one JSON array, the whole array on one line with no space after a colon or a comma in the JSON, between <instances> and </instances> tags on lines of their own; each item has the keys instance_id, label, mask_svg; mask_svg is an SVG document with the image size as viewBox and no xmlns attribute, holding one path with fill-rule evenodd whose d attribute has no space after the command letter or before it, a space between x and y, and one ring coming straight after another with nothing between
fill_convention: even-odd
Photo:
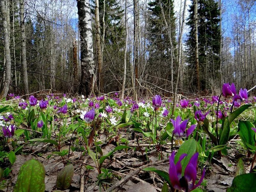
<instances>
[{"instance_id":1,"label":"whole backdrop of bare trees, spruces and blue sky above flowers","mask_svg":"<svg viewBox=\"0 0 256 192\"><path fill-rule=\"evenodd\" d=\"M232 2L3 0L1 97L209 95L224 82L250 89L255 2Z\"/></svg>"}]
</instances>

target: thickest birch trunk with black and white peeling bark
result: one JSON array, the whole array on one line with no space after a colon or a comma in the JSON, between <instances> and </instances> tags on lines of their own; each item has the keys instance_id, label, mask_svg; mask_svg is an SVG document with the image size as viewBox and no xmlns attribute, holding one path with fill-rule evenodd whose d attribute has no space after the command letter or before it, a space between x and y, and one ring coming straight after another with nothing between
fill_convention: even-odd
<instances>
[{"instance_id":1,"label":"thickest birch trunk with black and white peeling bark","mask_svg":"<svg viewBox=\"0 0 256 192\"><path fill-rule=\"evenodd\" d=\"M89 0L77 0L78 21L81 40L81 80L79 93L89 96L93 89L95 74L92 20Z\"/></svg>"}]
</instances>

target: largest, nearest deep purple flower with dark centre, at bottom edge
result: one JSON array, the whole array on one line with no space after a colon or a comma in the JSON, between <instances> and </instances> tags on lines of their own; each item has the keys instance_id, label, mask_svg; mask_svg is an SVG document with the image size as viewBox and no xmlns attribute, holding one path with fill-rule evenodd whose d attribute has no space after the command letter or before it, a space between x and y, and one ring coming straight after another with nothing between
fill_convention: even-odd
<instances>
[{"instance_id":1,"label":"largest, nearest deep purple flower with dark centre, at bottom edge","mask_svg":"<svg viewBox=\"0 0 256 192\"><path fill-rule=\"evenodd\" d=\"M190 191L197 188L204 179L205 169L203 170L202 177L196 184L196 165L198 161L198 153L195 153L189 160L184 175L182 174L182 166L181 160L187 156L187 154L182 154L180 156L179 161L175 164L174 163L174 155L175 152L173 151L171 156L169 157L170 168L169 168L169 177L172 183L172 187L179 190L179 191ZM192 182L191 182L192 181ZM196 184L196 185L195 185Z\"/></svg>"}]
</instances>

